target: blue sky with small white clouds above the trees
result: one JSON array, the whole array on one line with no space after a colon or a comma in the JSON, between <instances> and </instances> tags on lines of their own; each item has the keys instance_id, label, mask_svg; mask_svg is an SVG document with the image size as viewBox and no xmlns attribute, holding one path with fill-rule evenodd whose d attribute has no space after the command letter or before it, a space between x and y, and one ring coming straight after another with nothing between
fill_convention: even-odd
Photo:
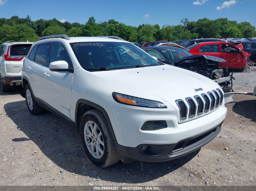
<instances>
[{"instance_id":1,"label":"blue sky with small white clouds above the trees","mask_svg":"<svg viewBox=\"0 0 256 191\"><path fill-rule=\"evenodd\" d=\"M218 7L218 8L217 8ZM85 24L90 16L96 22L115 19L127 25L180 24L182 18L248 21L256 26L256 0L0 0L0 17L30 15L33 21L56 18Z\"/></svg>"}]
</instances>

